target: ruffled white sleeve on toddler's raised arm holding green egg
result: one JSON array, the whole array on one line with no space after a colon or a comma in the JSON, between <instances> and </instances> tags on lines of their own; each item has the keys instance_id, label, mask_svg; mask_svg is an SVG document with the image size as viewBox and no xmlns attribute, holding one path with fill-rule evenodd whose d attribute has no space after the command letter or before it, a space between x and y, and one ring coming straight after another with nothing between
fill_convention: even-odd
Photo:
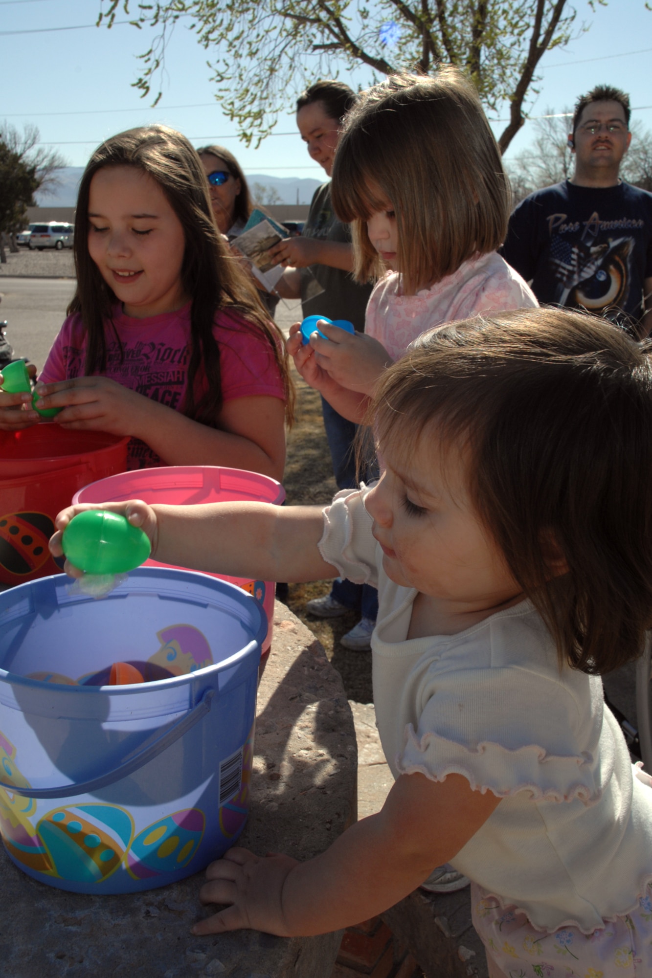
<instances>
[{"instance_id":1,"label":"ruffled white sleeve on toddler's raised arm holding green egg","mask_svg":"<svg viewBox=\"0 0 652 978\"><path fill-rule=\"evenodd\" d=\"M378 587L378 544L371 535L372 519L364 509L368 488L344 489L324 510L319 553L340 575L354 584Z\"/></svg>"}]
</instances>

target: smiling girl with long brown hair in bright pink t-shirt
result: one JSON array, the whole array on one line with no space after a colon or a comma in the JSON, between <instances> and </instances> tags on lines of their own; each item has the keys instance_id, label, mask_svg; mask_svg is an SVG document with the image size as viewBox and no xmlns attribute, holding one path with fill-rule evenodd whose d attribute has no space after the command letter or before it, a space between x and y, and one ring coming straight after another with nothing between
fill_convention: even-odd
<instances>
[{"instance_id":1,"label":"smiling girl with long brown hair in bright pink t-shirt","mask_svg":"<svg viewBox=\"0 0 652 978\"><path fill-rule=\"evenodd\" d=\"M69 317L39 407L130 435L128 467L224 465L281 478L293 388L282 336L227 250L200 157L163 125L119 133L79 186ZM0 426L34 412L0 403Z\"/></svg>"}]
</instances>

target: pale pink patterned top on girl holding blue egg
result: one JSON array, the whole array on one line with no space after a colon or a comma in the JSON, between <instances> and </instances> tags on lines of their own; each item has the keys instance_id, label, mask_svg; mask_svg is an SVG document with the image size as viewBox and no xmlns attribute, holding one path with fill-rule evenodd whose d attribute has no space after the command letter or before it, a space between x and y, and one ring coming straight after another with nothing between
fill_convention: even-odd
<instances>
[{"instance_id":1,"label":"pale pink patterned top on girl holding blue egg","mask_svg":"<svg viewBox=\"0 0 652 978\"><path fill-rule=\"evenodd\" d=\"M495 251L469 258L432 289L416 295L403 295L400 283L397 272L388 272L380 280L364 321L364 332L378 339L393 360L434 326L482 312L538 305L533 290Z\"/></svg>"}]
</instances>

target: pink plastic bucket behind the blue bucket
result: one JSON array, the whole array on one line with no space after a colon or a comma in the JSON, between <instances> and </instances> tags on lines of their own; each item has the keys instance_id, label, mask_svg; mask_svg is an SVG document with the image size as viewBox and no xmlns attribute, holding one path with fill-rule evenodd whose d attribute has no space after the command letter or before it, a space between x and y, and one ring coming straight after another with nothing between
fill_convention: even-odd
<instances>
[{"instance_id":1,"label":"pink plastic bucket behind the blue bucket","mask_svg":"<svg viewBox=\"0 0 652 978\"><path fill-rule=\"evenodd\" d=\"M267 475L259 475L257 472L248 472L241 468L166 466L141 468L100 479L75 493L72 502L119 503L127 499L142 499L146 503L164 503L170 506L235 501L274 503L280 506L285 499L285 489L280 482ZM170 566L159 563L158 560L148 560L147 565ZM272 637L274 582L251 581L242 577L228 577L226 574L211 576L237 584L262 604L269 625L267 636L262 644L264 654L269 650Z\"/></svg>"}]
</instances>

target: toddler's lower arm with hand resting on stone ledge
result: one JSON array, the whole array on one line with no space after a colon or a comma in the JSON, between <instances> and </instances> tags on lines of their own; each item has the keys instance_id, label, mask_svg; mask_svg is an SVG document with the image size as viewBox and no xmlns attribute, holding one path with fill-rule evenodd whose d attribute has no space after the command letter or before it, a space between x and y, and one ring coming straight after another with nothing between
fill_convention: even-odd
<instances>
[{"instance_id":1,"label":"toddler's lower arm with hand resting on stone ledge","mask_svg":"<svg viewBox=\"0 0 652 978\"><path fill-rule=\"evenodd\" d=\"M204 904L228 904L195 934L255 928L284 937L324 934L392 907L452 859L500 799L466 778L402 775L378 815L352 825L321 856L298 863L231 849L211 863Z\"/></svg>"}]
</instances>

